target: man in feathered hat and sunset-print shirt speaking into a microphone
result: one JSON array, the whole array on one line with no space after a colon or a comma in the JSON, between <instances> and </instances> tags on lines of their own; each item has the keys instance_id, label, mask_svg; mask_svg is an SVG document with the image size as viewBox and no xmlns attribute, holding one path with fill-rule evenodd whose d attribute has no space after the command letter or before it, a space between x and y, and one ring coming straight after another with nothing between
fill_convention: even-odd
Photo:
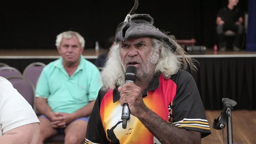
<instances>
[{"instance_id":1,"label":"man in feathered hat and sunset-print shirt speaking into a microphone","mask_svg":"<svg viewBox=\"0 0 256 144\"><path fill-rule=\"evenodd\" d=\"M185 71L196 69L193 60L153 22L150 15L133 14L118 25L85 143L187 144L210 134L197 85ZM134 82L125 80L129 66L137 70ZM126 104L130 116L121 118Z\"/></svg>"}]
</instances>

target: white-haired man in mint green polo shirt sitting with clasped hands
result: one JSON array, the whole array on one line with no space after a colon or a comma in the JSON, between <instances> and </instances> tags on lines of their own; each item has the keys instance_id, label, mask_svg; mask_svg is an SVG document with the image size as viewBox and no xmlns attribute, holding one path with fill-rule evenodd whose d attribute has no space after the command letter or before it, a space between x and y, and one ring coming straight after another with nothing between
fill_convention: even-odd
<instances>
[{"instance_id":1,"label":"white-haired man in mint green polo shirt sitting with clasped hands","mask_svg":"<svg viewBox=\"0 0 256 144\"><path fill-rule=\"evenodd\" d=\"M85 40L77 32L60 33L56 46L61 58L43 69L36 87L36 108L42 114L40 142L58 133L65 143L84 142L87 122L102 86L100 71L82 57Z\"/></svg>"}]
</instances>

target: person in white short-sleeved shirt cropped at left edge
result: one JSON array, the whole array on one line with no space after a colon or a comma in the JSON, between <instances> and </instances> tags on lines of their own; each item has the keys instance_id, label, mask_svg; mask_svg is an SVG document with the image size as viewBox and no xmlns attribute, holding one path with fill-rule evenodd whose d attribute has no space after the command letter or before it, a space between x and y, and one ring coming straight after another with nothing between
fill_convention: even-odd
<instances>
[{"instance_id":1,"label":"person in white short-sleeved shirt cropped at left edge","mask_svg":"<svg viewBox=\"0 0 256 144\"><path fill-rule=\"evenodd\" d=\"M39 120L31 105L0 76L0 144L38 144Z\"/></svg>"}]
</instances>

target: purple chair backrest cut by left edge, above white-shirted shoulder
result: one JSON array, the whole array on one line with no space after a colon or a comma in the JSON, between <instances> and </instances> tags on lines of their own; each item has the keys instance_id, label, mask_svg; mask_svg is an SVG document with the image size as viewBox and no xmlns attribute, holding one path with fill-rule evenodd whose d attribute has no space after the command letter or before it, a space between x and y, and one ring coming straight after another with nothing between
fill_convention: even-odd
<instances>
[{"instance_id":1,"label":"purple chair backrest cut by left edge, above white-shirted shoulder","mask_svg":"<svg viewBox=\"0 0 256 144\"><path fill-rule=\"evenodd\" d=\"M22 76L22 74L18 69L14 67L4 66L0 68L0 76L7 79L10 76Z\"/></svg>"}]
</instances>

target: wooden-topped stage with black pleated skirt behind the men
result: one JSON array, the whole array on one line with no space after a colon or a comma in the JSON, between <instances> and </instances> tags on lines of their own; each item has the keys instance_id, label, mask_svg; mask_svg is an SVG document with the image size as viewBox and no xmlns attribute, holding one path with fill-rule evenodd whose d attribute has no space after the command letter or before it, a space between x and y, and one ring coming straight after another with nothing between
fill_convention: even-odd
<instances>
[{"instance_id":1,"label":"wooden-topped stage with black pleated skirt behind the men","mask_svg":"<svg viewBox=\"0 0 256 144\"><path fill-rule=\"evenodd\" d=\"M85 49L83 56L94 63L106 49ZM214 52L193 54L198 71L192 73L206 110L221 110L222 98L238 102L234 109L256 110L256 52ZM21 72L33 62L48 64L58 59L57 49L0 50L0 62Z\"/></svg>"}]
</instances>

